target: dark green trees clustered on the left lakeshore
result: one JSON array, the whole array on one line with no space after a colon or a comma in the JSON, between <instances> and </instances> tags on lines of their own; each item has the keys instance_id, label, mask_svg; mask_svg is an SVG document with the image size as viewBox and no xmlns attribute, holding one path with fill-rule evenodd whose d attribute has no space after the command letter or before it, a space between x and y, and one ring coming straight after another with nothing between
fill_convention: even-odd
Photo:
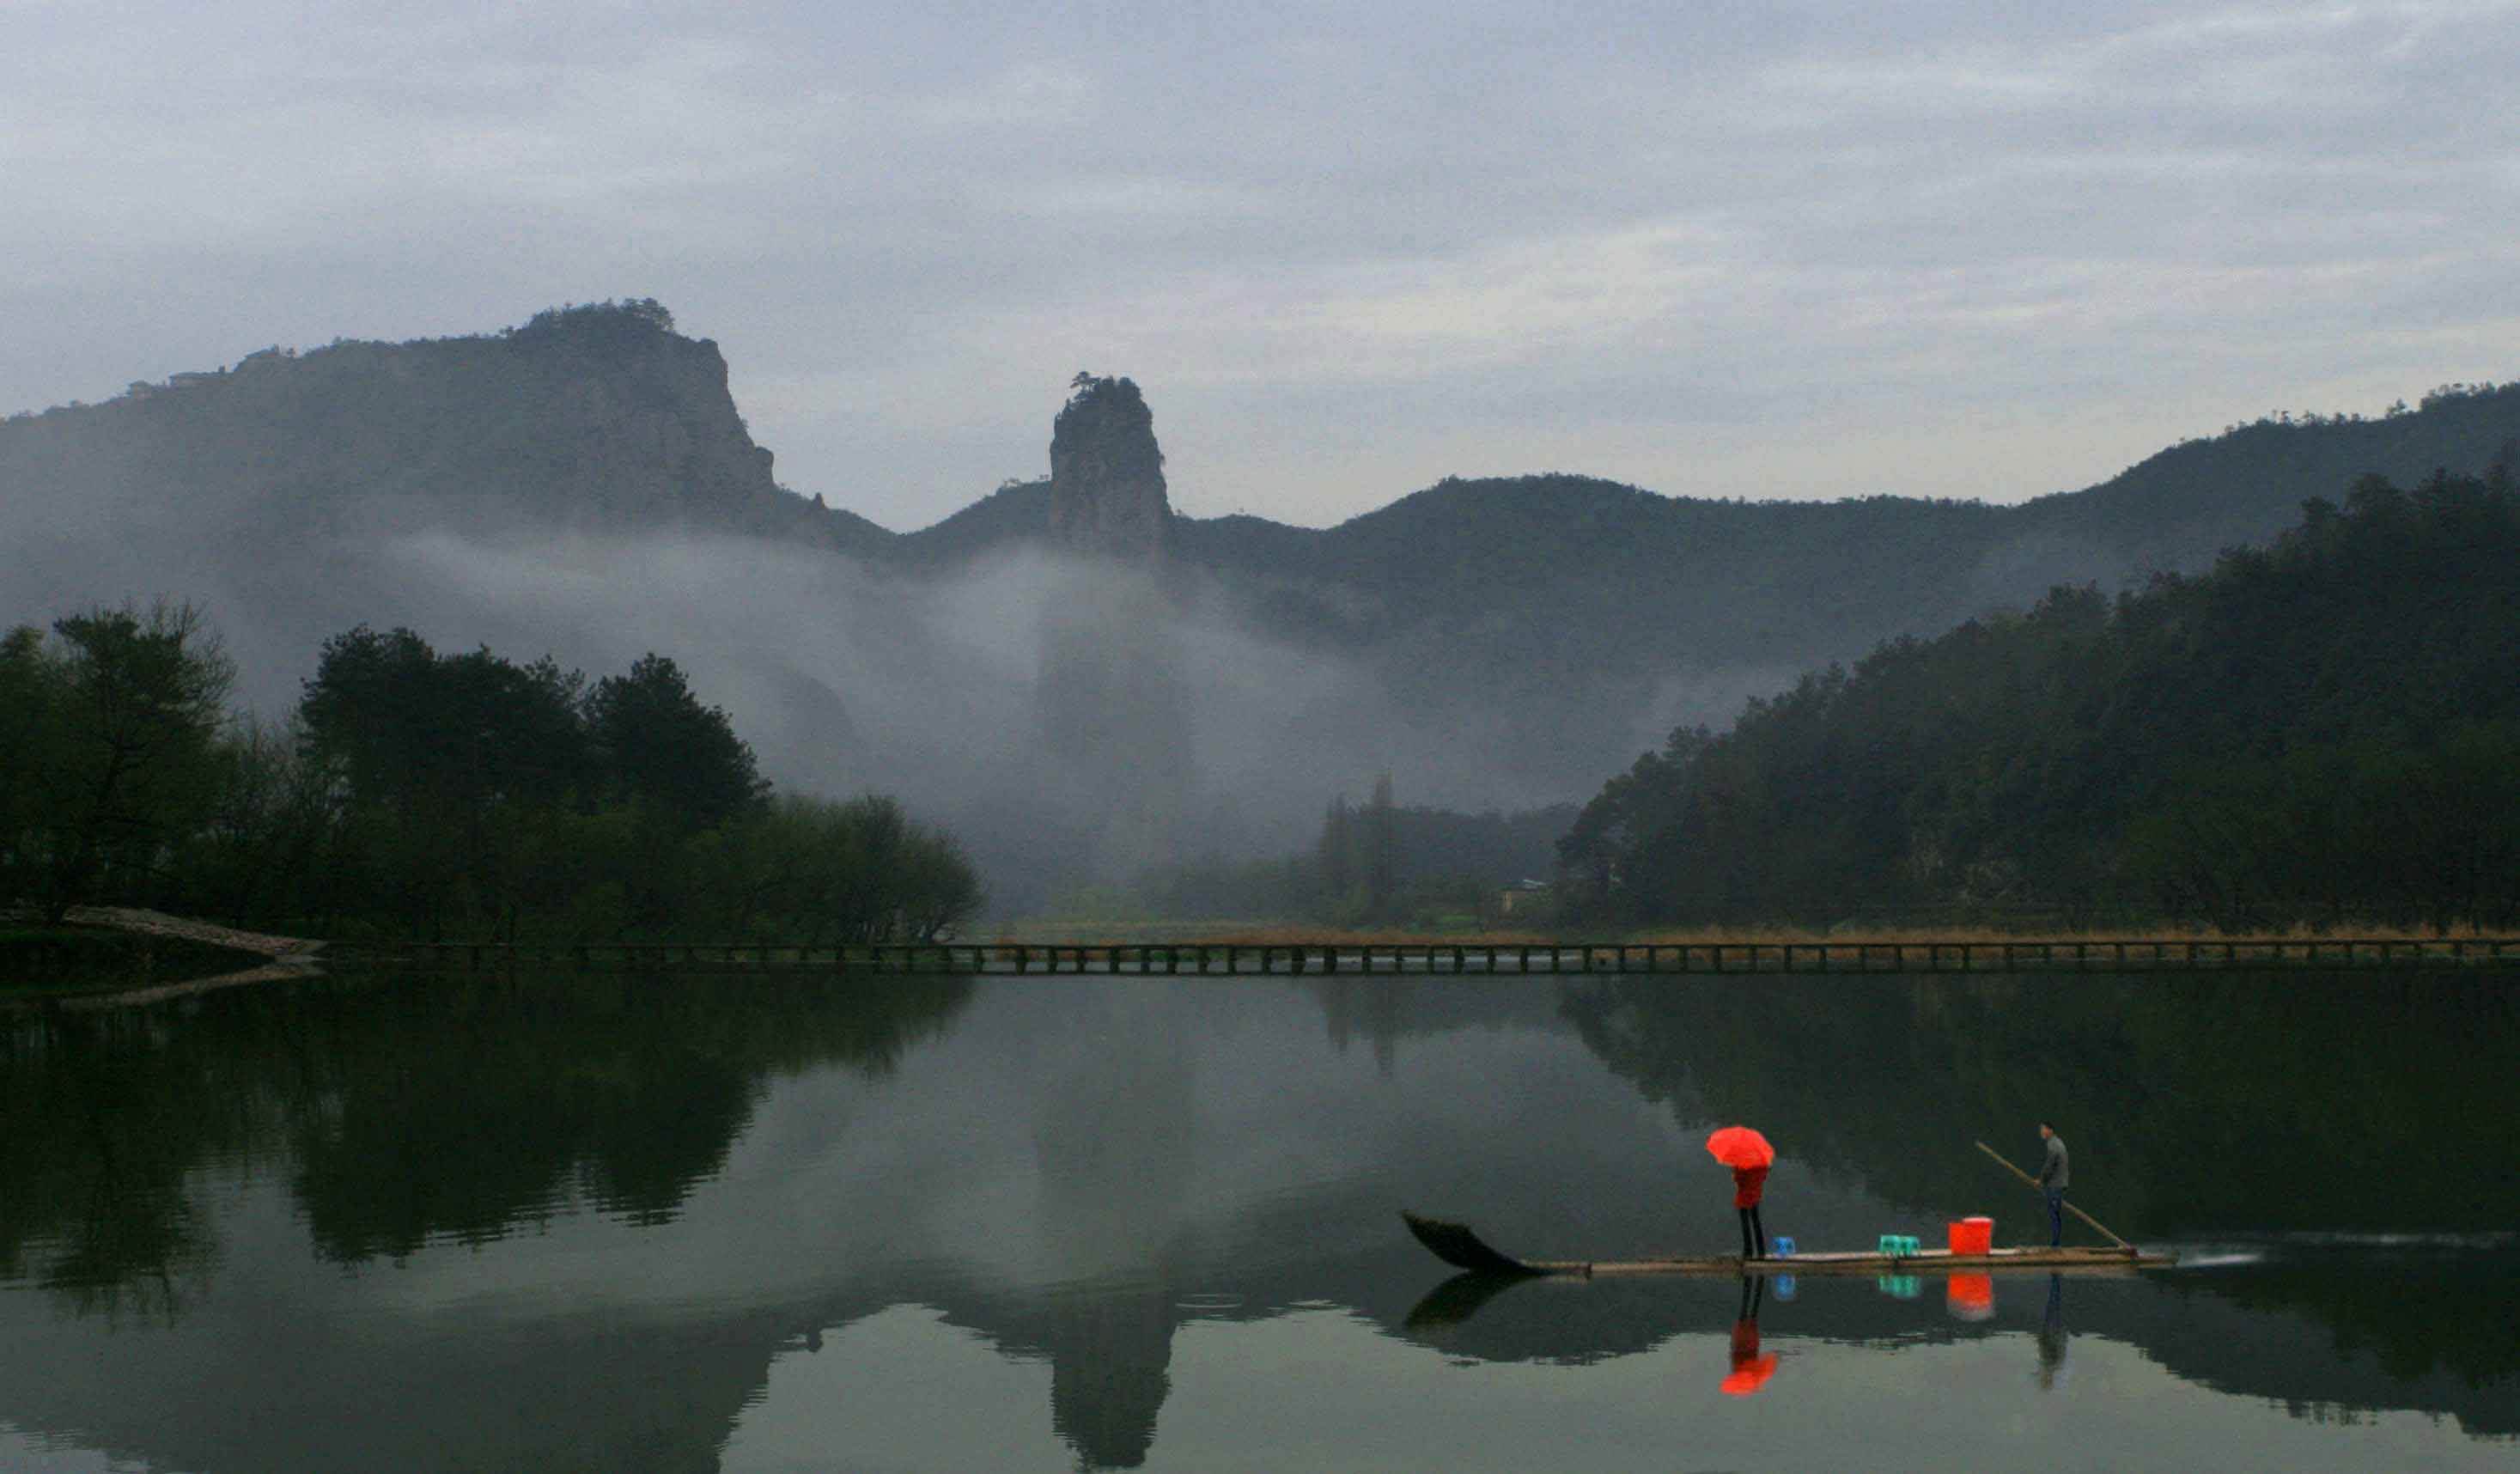
<instances>
[{"instance_id":1,"label":"dark green trees clustered on the left lakeshore","mask_svg":"<svg viewBox=\"0 0 2520 1474\"><path fill-rule=\"evenodd\" d=\"M721 708L648 655L325 640L287 723L227 711L189 605L0 640L0 897L315 935L935 940L980 907L953 837L882 796L771 794Z\"/></svg>"}]
</instances>

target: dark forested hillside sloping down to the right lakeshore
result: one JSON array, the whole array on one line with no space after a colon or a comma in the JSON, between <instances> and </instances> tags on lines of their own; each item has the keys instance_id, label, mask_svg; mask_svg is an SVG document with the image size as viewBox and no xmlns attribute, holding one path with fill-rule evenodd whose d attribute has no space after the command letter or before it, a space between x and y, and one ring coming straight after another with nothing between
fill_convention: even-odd
<instances>
[{"instance_id":1,"label":"dark forested hillside sloping down to the right lakeshore","mask_svg":"<svg viewBox=\"0 0 2520 1474\"><path fill-rule=\"evenodd\" d=\"M2366 476L2268 549L1895 640L1673 731L1560 842L1588 917L2520 920L2520 494Z\"/></svg>"}]
</instances>

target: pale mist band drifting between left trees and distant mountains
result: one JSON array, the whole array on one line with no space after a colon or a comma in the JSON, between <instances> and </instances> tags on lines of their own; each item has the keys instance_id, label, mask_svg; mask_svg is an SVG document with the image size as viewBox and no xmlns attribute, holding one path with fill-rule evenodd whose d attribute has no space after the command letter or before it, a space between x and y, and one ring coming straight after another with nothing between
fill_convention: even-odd
<instances>
[{"instance_id":1,"label":"pale mist band drifting between left trees and distant mountains","mask_svg":"<svg viewBox=\"0 0 2520 1474\"><path fill-rule=\"evenodd\" d=\"M953 829L1000 915L1154 864L1295 852L1336 794L1376 774L1404 801L1452 809L1583 799L1668 726L1724 721L1784 678L1666 678L1625 708L1477 693L1429 706L1394 695L1371 655L1255 632L1232 590L1189 569L1154 580L1021 547L932 574L748 537L484 522L481 506L431 501L348 499L307 527L249 506L23 499L0 509L0 620L192 600L237 660L237 706L265 718L285 718L320 643L360 622L408 625L438 650L552 655L590 678L655 650L728 711L781 789L885 791ZM1058 643L1157 665L1094 700L1106 733L1179 733L1162 814L1114 816L1131 784L1154 781L1144 751L1096 771L1109 738L1081 758L1048 741Z\"/></svg>"}]
</instances>

